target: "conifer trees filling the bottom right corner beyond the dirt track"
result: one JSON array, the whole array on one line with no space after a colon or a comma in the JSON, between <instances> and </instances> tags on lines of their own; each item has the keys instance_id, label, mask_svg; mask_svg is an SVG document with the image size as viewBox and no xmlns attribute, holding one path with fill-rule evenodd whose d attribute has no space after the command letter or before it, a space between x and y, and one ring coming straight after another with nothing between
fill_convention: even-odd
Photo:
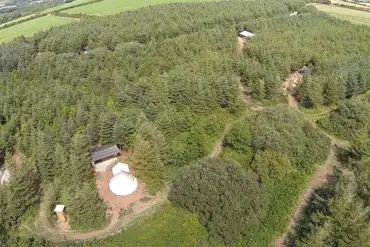
<instances>
[{"instance_id":1,"label":"conifer trees filling the bottom right corner beyond the dirt track","mask_svg":"<svg viewBox=\"0 0 370 247\"><path fill-rule=\"evenodd\" d=\"M329 184L313 194L288 246L368 246L369 201L368 195L359 194L366 187L358 175L339 173L336 185Z\"/></svg>"}]
</instances>

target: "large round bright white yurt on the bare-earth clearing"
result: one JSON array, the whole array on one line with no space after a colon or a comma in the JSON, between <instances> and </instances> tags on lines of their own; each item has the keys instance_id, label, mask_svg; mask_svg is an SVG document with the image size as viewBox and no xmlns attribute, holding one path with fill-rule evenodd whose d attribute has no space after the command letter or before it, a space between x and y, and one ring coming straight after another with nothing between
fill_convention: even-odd
<instances>
[{"instance_id":1,"label":"large round bright white yurt on the bare-earth clearing","mask_svg":"<svg viewBox=\"0 0 370 247\"><path fill-rule=\"evenodd\" d=\"M127 196L134 193L137 186L136 178L126 172L118 173L109 182L110 191L118 196Z\"/></svg>"}]
</instances>

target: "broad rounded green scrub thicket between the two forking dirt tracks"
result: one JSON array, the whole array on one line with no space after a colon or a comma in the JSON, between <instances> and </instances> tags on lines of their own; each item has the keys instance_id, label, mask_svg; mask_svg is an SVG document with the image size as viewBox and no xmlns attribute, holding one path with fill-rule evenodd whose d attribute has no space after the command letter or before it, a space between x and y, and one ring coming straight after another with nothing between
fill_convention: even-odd
<instances>
[{"instance_id":1,"label":"broad rounded green scrub thicket between the two forking dirt tracks","mask_svg":"<svg viewBox=\"0 0 370 247\"><path fill-rule=\"evenodd\" d=\"M309 173L325 160L330 140L302 113L286 107L269 107L234 126L224 140L226 157L254 170L264 183L293 171Z\"/></svg>"}]
</instances>

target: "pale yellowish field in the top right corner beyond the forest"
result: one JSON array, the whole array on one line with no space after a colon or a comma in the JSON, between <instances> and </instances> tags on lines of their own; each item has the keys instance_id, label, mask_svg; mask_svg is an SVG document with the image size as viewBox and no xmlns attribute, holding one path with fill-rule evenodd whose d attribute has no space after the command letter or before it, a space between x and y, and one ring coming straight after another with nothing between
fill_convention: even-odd
<instances>
[{"instance_id":1,"label":"pale yellowish field in the top right corner beyond the forest","mask_svg":"<svg viewBox=\"0 0 370 247\"><path fill-rule=\"evenodd\" d=\"M369 12L325 4L314 4L314 6L318 10L324 11L329 15L340 18L342 20L347 20L355 24L364 24L370 26Z\"/></svg>"}]
</instances>

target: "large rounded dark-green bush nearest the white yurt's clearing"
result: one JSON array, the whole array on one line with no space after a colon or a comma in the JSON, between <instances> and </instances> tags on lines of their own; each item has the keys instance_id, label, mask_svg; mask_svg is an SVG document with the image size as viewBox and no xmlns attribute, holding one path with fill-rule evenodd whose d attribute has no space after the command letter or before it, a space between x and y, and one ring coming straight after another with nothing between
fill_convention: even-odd
<instances>
[{"instance_id":1,"label":"large rounded dark-green bush nearest the white yurt's clearing","mask_svg":"<svg viewBox=\"0 0 370 247\"><path fill-rule=\"evenodd\" d=\"M258 227L266 204L265 189L257 176L220 158L185 169L175 179L168 199L197 213L209 233L225 243L238 241Z\"/></svg>"}]
</instances>

